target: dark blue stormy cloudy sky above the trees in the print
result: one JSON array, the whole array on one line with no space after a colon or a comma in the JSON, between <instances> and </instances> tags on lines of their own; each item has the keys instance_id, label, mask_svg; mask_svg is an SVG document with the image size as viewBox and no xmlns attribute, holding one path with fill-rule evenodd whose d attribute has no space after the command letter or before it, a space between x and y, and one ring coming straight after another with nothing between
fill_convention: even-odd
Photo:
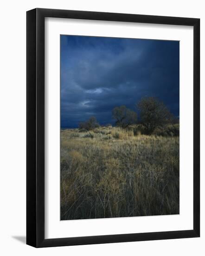
<instances>
[{"instance_id":1,"label":"dark blue stormy cloudy sky above the trees in the print","mask_svg":"<svg viewBox=\"0 0 205 256\"><path fill-rule=\"evenodd\" d=\"M179 116L178 41L61 35L60 44L62 128L90 116L114 123L114 107L137 111L144 96Z\"/></svg>"}]
</instances>

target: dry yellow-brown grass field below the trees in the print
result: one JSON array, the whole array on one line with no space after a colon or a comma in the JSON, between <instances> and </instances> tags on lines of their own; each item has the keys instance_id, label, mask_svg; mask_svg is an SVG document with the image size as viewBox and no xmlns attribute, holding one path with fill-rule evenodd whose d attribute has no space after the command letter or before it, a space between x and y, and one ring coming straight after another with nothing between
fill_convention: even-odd
<instances>
[{"instance_id":1,"label":"dry yellow-brown grass field below the trees in the print","mask_svg":"<svg viewBox=\"0 0 205 256\"><path fill-rule=\"evenodd\" d=\"M179 214L179 136L61 130L61 220Z\"/></svg>"}]
</instances>

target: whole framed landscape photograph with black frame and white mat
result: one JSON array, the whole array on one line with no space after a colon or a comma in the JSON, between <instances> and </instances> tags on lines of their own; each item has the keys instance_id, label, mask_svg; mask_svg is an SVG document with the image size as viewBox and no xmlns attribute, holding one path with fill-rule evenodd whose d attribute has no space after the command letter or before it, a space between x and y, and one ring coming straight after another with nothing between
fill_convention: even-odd
<instances>
[{"instance_id":1,"label":"whole framed landscape photograph with black frame and white mat","mask_svg":"<svg viewBox=\"0 0 205 256\"><path fill-rule=\"evenodd\" d=\"M26 17L26 243L199 237L200 20Z\"/></svg>"}]
</instances>

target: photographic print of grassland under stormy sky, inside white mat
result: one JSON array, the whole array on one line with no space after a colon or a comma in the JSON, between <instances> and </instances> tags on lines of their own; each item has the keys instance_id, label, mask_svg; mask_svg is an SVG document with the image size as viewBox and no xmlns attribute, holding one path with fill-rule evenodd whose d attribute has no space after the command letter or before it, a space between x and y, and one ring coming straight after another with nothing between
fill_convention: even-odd
<instances>
[{"instance_id":1,"label":"photographic print of grassland under stormy sky, inside white mat","mask_svg":"<svg viewBox=\"0 0 205 256\"><path fill-rule=\"evenodd\" d=\"M60 35L61 220L179 214L179 41Z\"/></svg>"}]
</instances>

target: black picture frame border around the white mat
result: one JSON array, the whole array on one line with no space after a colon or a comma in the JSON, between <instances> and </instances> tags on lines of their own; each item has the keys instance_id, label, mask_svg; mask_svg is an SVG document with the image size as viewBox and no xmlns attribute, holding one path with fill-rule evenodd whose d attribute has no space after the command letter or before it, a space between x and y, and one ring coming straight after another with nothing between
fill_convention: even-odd
<instances>
[{"instance_id":1,"label":"black picture frame border around the white mat","mask_svg":"<svg viewBox=\"0 0 205 256\"><path fill-rule=\"evenodd\" d=\"M193 27L193 229L45 239L45 17L107 20ZM26 243L33 247L119 243L200 236L200 19L33 9L26 13Z\"/></svg>"}]
</instances>

